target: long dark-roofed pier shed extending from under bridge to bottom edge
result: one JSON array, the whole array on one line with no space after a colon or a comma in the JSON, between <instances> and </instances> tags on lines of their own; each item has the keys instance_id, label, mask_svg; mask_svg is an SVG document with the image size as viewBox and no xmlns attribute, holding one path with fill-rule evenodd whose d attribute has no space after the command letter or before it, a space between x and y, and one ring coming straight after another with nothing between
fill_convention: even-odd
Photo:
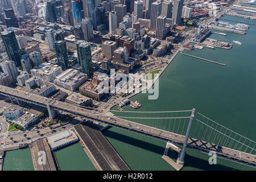
<instances>
[{"instance_id":1,"label":"long dark-roofed pier shed extending from under bridge to bottom edge","mask_svg":"<svg viewBox=\"0 0 256 182\"><path fill-rule=\"evenodd\" d=\"M75 131L84 151L98 171L130 171L130 168L114 150L112 145L96 125L82 122L75 126Z\"/></svg>"}]
</instances>

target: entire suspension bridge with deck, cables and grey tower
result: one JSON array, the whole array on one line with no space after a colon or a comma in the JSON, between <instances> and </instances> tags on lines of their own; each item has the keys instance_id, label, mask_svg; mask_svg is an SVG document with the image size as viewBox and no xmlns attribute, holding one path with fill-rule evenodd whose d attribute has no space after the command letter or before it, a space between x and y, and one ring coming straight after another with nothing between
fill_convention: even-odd
<instances>
[{"instance_id":1,"label":"entire suspension bridge with deck, cables and grey tower","mask_svg":"<svg viewBox=\"0 0 256 182\"><path fill-rule=\"evenodd\" d=\"M117 112L118 116L110 116L96 112L92 107L72 105L2 85L0 94L18 101L46 107L51 119L56 117L56 111L63 111L180 145L182 148L177 164L181 166L184 165L186 148L192 148L207 154L214 151L220 158L256 167L256 142L218 124L195 109L181 111L111 110L114 113Z\"/></svg>"}]
</instances>

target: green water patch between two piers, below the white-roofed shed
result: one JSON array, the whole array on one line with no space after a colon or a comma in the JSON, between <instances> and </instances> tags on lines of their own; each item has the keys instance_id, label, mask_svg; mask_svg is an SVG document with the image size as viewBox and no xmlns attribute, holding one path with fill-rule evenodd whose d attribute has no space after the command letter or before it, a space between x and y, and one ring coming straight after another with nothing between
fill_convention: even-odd
<instances>
[{"instance_id":1,"label":"green water patch between two piers, below the white-roofed shed","mask_svg":"<svg viewBox=\"0 0 256 182\"><path fill-rule=\"evenodd\" d=\"M62 171L96 170L79 142L54 152Z\"/></svg>"}]
</instances>

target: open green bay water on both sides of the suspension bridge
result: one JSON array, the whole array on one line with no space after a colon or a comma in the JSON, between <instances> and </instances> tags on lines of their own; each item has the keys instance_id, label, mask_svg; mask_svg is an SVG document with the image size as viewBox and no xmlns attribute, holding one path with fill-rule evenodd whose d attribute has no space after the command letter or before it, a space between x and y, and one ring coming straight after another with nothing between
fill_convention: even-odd
<instances>
[{"instance_id":1,"label":"open green bay water on both sides of the suspension bridge","mask_svg":"<svg viewBox=\"0 0 256 182\"><path fill-rule=\"evenodd\" d=\"M224 18L255 23L254 20L232 16ZM256 26L250 25L246 35L226 34L228 36L212 34L210 38L230 43L238 40L243 44L234 44L230 50L204 48L185 51L191 55L224 63L226 67L178 54L159 78L158 100L148 100L148 94L137 94L131 98L142 104L139 110L191 110L195 107L197 111L221 125L255 140ZM133 110L129 106L123 109ZM174 169L161 158L166 144L160 140L117 128L104 131L104 135L133 170ZM177 158L175 153L172 158ZM209 165L208 159L207 154L187 150L185 167L182 170L254 169L220 158L217 159L217 165Z\"/></svg>"}]
</instances>

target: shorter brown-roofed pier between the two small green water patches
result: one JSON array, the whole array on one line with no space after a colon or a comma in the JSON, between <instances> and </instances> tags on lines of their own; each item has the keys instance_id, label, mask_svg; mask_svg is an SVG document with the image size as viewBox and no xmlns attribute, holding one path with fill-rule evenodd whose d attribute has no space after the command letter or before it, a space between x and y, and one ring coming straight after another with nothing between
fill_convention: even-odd
<instances>
[{"instance_id":1,"label":"shorter brown-roofed pier between the two small green water patches","mask_svg":"<svg viewBox=\"0 0 256 182\"><path fill-rule=\"evenodd\" d=\"M55 155L53 151L51 150L51 147L49 144L46 142L44 139L37 139L34 142L32 142L31 147L31 156L32 156L32 161L33 165L35 168L35 171L58 171L59 166L57 164L57 160L55 158ZM40 163L41 158L43 155L39 153L39 151L45 152L46 154L46 163Z\"/></svg>"}]
</instances>

